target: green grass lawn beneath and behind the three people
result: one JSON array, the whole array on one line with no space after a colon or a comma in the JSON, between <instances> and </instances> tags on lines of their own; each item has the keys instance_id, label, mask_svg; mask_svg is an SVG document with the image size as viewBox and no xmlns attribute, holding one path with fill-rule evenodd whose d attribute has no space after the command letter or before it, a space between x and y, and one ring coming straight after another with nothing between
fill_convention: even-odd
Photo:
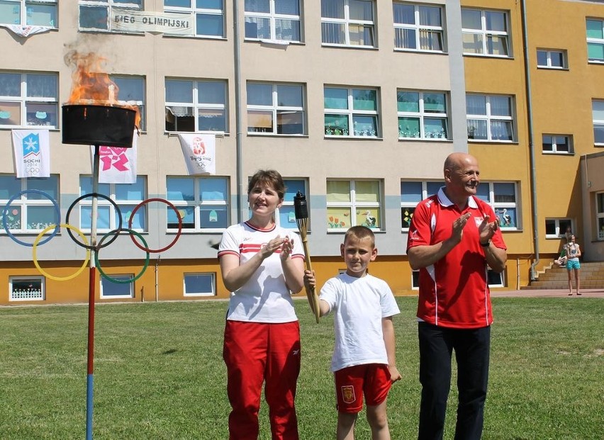
<instances>
[{"instance_id":1,"label":"green grass lawn beneath and behind the three people","mask_svg":"<svg viewBox=\"0 0 604 440\"><path fill-rule=\"evenodd\" d=\"M398 298L398 369L388 397L393 439L417 436L415 298ZM483 439L603 439L604 300L493 298ZM223 301L99 305L95 439L226 439ZM301 439L334 438L332 321L305 301L296 397ZM0 439L84 439L86 305L0 308ZM455 380L455 379L454 379ZM452 389L445 439L453 438ZM267 407L261 439L270 439ZM369 439L360 414L357 439Z\"/></svg>"}]
</instances>

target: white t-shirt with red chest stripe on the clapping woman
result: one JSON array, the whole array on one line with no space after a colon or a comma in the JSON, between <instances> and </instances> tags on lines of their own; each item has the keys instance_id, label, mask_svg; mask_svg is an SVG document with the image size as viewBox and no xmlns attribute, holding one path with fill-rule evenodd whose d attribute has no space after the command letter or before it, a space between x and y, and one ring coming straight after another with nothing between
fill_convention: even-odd
<instances>
[{"instance_id":1,"label":"white t-shirt with red chest stripe on the clapping woman","mask_svg":"<svg viewBox=\"0 0 604 440\"><path fill-rule=\"evenodd\" d=\"M218 247L218 257L234 254L239 256L240 264L244 264L277 235L293 238L291 258L304 258L301 238L293 230L276 225L262 230L248 222L225 230ZM291 292L285 283L279 252L264 259L247 283L231 292L227 320L272 323L298 320Z\"/></svg>"}]
</instances>

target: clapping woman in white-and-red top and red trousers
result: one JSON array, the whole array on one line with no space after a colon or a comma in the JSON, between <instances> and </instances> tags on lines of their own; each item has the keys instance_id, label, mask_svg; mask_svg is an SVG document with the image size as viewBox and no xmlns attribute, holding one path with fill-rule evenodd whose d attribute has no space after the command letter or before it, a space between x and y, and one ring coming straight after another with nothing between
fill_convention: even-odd
<instances>
[{"instance_id":1,"label":"clapping woman in white-and-red top and red trousers","mask_svg":"<svg viewBox=\"0 0 604 440\"><path fill-rule=\"evenodd\" d=\"M291 293L304 286L304 254L298 236L274 221L284 193L277 171L257 171L247 187L252 218L228 227L218 249L223 282L231 292L223 359L232 440L258 438L263 382L272 438L298 439L294 397L300 327Z\"/></svg>"}]
</instances>

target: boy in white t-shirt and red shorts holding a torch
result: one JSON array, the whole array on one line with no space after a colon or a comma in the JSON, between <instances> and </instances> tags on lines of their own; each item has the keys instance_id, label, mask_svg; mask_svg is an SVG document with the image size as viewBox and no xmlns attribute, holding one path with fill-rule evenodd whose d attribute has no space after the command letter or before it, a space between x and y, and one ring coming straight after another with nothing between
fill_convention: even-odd
<instances>
[{"instance_id":1,"label":"boy in white t-shirt and red shorts holding a torch","mask_svg":"<svg viewBox=\"0 0 604 440\"><path fill-rule=\"evenodd\" d=\"M354 439L354 423L367 400L371 439L389 440L386 397L401 379L396 368L393 315L400 313L386 281L369 275L377 256L374 233L368 227L347 230L340 253L346 272L331 278L320 291L320 316L335 313L335 348L331 371L337 397L337 440ZM305 282L315 276L305 271Z\"/></svg>"}]
</instances>

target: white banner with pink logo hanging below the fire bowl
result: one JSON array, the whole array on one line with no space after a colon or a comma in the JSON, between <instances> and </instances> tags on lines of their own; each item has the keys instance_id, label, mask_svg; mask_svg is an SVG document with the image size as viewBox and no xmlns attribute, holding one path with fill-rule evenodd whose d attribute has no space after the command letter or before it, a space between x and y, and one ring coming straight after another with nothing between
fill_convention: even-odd
<instances>
[{"instance_id":1,"label":"white banner with pink logo hanging below the fire bowl","mask_svg":"<svg viewBox=\"0 0 604 440\"><path fill-rule=\"evenodd\" d=\"M136 183L136 130L132 138L132 148L99 147L99 184ZM91 146L94 160L94 145Z\"/></svg>"}]
</instances>

